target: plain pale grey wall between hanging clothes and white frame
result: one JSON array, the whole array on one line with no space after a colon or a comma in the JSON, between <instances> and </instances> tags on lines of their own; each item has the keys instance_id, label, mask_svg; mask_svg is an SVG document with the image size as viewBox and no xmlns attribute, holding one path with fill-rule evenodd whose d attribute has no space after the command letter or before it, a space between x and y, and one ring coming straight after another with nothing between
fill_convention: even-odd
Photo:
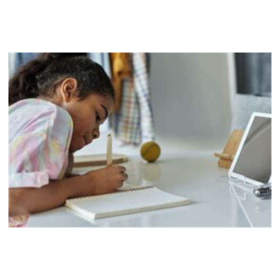
<instances>
[{"instance_id":1,"label":"plain pale grey wall between hanging clothes and white frame","mask_svg":"<svg viewBox=\"0 0 280 280\"><path fill-rule=\"evenodd\" d=\"M151 53L158 137L222 147L230 133L233 80L232 53Z\"/></svg>"}]
</instances>

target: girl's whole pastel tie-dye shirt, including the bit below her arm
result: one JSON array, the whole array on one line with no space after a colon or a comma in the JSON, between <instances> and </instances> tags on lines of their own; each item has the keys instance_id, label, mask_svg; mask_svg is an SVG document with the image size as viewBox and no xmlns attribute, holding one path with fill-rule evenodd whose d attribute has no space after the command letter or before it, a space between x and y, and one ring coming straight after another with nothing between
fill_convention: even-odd
<instances>
[{"instance_id":1,"label":"girl's whole pastel tie-dye shirt, including the bit below her arm","mask_svg":"<svg viewBox=\"0 0 280 280\"><path fill-rule=\"evenodd\" d=\"M72 132L70 114L53 103L26 99L8 107L8 188L40 188L63 178ZM8 227L27 219L8 217Z\"/></svg>"}]
</instances>

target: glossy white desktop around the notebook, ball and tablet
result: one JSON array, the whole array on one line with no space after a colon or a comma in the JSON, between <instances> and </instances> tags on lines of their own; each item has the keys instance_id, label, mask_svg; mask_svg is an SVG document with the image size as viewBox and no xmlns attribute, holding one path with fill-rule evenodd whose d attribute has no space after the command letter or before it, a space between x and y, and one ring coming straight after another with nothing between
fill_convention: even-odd
<instances>
[{"instance_id":1,"label":"glossy white desktop around the notebook, ball and tablet","mask_svg":"<svg viewBox=\"0 0 280 280\"><path fill-rule=\"evenodd\" d=\"M96 220L91 224L62 207L32 215L29 227L272 227L272 200L229 186L213 151L167 154L158 163L131 157L132 184L153 184L191 198L189 206Z\"/></svg>"}]
</instances>

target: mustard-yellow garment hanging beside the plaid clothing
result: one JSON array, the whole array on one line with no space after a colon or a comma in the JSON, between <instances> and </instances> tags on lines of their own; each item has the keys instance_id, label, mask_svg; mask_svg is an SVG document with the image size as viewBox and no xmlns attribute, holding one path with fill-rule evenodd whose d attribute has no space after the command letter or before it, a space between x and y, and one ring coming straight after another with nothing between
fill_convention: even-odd
<instances>
[{"instance_id":1,"label":"mustard-yellow garment hanging beside the plaid clothing","mask_svg":"<svg viewBox=\"0 0 280 280\"><path fill-rule=\"evenodd\" d=\"M132 78L129 52L111 52L112 82L115 88L114 112L119 113L122 105L123 82Z\"/></svg>"}]
</instances>

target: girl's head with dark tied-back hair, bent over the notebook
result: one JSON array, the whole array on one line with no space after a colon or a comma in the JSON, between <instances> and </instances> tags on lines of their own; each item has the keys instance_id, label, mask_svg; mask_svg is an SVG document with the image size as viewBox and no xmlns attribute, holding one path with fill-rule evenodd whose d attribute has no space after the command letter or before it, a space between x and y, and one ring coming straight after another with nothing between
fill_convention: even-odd
<instances>
[{"instance_id":1,"label":"girl's head with dark tied-back hair, bent over the notebook","mask_svg":"<svg viewBox=\"0 0 280 280\"><path fill-rule=\"evenodd\" d=\"M113 107L114 89L86 52L48 52L18 70L8 83L8 103L40 98L65 108L74 123L70 151L99 137Z\"/></svg>"}]
</instances>

